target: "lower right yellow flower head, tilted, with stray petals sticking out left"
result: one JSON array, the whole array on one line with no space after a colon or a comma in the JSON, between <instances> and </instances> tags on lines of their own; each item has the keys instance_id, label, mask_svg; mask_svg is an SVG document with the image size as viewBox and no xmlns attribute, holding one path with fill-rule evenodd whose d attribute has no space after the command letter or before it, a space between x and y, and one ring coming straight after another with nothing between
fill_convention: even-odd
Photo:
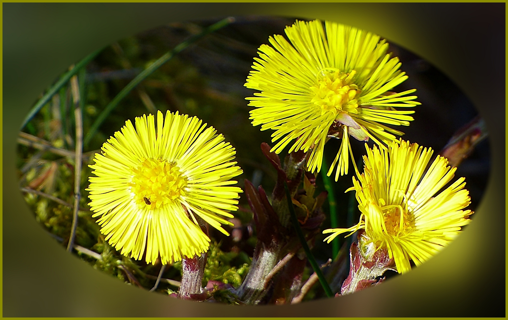
<instances>
[{"instance_id":1,"label":"lower right yellow flower head, tilted, with stray petals sticking out left","mask_svg":"<svg viewBox=\"0 0 508 320\"><path fill-rule=\"evenodd\" d=\"M387 249L397 271L404 273L411 269L409 259L420 265L470 222L473 212L462 210L470 203L469 193L463 177L438 193L457 168L437 156L424 174L433 153L430 148L400 140L388 151L367 145L366 149L364 172L359 181L353 177L354 187L347 190L356 190L360 222L348 229L323 231L333 233L325 241L365 229L362 243Z\"/></svg>"}]
</instances>

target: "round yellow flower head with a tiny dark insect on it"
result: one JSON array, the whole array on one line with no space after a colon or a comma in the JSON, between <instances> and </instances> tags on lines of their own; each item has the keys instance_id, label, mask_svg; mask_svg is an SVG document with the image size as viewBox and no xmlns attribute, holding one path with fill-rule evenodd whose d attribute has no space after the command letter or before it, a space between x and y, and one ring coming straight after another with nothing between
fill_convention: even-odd
<instances>
[{"instance_id":1,"label":"round yellow flower head with a tiny dark insect on it","mask_svg":"<svg viewBox=\"0 0 508 320\"><path fill-rule=\"evenodd\" d=\"M156 125L155 125L156 121ZM241 189L231 187L235 149L196 117L159 111L125 122L96 154L88 190L106 240L121 254L154 263L193 257L208 249L203 219L220 224L236 210Z\"/></svg>"}]
</instances>

